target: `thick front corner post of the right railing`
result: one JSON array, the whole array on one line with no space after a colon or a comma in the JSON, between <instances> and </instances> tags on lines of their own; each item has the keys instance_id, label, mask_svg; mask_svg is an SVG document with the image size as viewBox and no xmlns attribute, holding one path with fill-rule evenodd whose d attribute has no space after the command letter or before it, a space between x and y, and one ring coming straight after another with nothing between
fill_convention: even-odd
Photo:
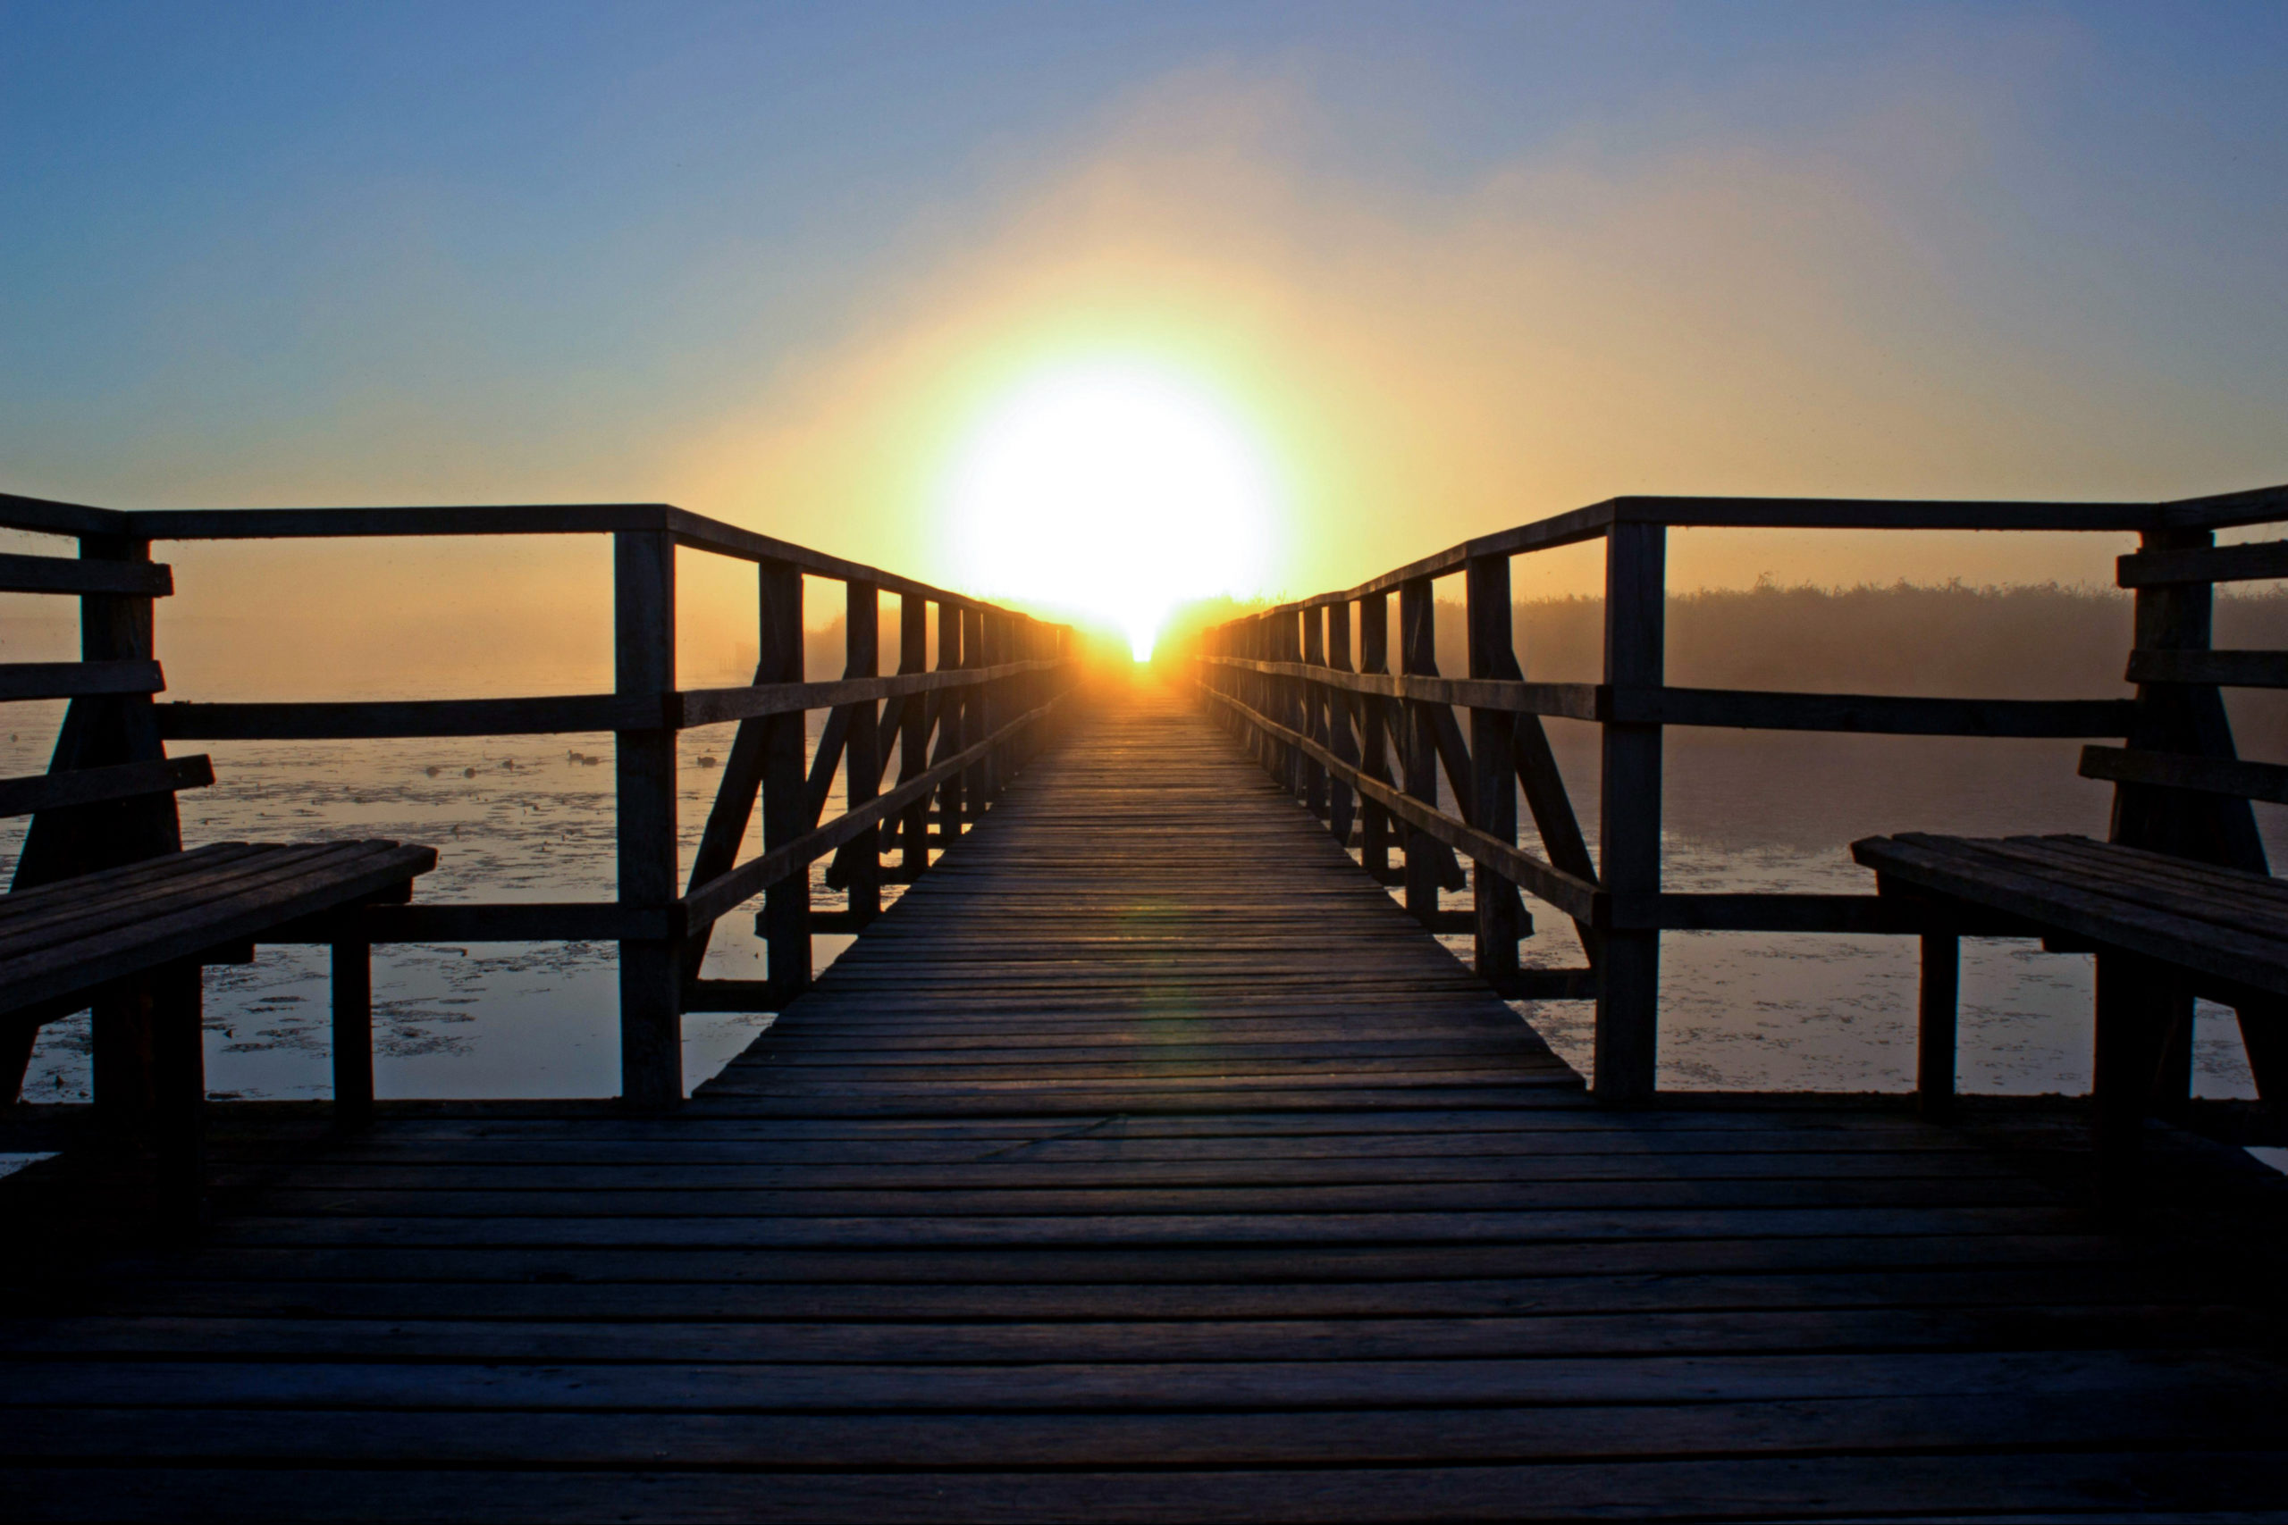
<instances>
[{"instance_id":1,"label":"thick front corner post of the right railing","mask_svg":"<svg viewBox=\"0 0 2288 1525\"><path fill-rule=\"evenodd\" d=\"M1659 686L1668 642L1668 526L1615 524L1604 544L1604 681ZM1604 725L1599 869L1615 912L1650 915L1661 892L1661 727ZM1661 933L1604 933L1595 1088L1634 1102L1654 1091Z\"/></svg>"}]
</instances>

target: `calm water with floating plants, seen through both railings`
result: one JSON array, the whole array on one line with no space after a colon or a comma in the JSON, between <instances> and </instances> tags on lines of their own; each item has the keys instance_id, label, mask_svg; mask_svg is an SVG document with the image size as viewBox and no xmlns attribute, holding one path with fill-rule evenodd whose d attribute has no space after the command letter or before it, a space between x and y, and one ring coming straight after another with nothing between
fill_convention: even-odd
<instances>
[{"instance_id":1,"label":"calm water with floating plants, seen through both railings","mask_svg":"<svg viewBox=\"0 0 2288 1525\"><path fill-rule=\"evenodd\" d=\"M46 764L53 716L18 711L5 773ZM545 745L542 745L545 741ZM1595 841L1595 736L1556 743ZM730 748L730 727L682 738L684 864ZM210 743L213 789L188 791L183 837L371 835L430 841L423 901L611 899L611 736L524 741ZM588 761L595 759L595 761ZM1670 732L1668 887L1867 892L1846 844L1885 830L2105 832L2110 791L2073 777L2073 743ZM2267 835L2279 821L2265 812ZM21 823L16 823L21 835ZM1528 832L1531 837L1531 832ZM2274 862L2288 839L2272 835ZM16 835L0 837L14 857ZM748 851L760 851L750 844ZM824 873L824 864L817 869ZM895 894L895 887L888 889ZM1464 905L1467 896L1448 896ZM1535 908L1526 958L1579 963L1563 917ZM1446 940L1462 958L1469 940ZM817 937L824 967L847 937ZM208 1084L236 1097L327 1093L325 949L261 949L208 972ZM760 979L753 915L716 928L709 979ZM1904 1091L1913 1077L1915 942L1908 937L1670 933L1661 944L1661 1084L1675 1088ZM1963 949L1963 1088L2089 1086L2089 958L2029 942ZM396 1097L611 1095L618 1088L611 944L375 949L375 1079ZM1588 1068L1590 1006L1519 1006ZM684 1017L689 1084L714 1075L769 1017ZM2196 1029L2203 1095L2254 1095L2231 1013ZM85 1017L43 1031L30 1100L87 1097Z\"/></svg>"}]
</instances>

